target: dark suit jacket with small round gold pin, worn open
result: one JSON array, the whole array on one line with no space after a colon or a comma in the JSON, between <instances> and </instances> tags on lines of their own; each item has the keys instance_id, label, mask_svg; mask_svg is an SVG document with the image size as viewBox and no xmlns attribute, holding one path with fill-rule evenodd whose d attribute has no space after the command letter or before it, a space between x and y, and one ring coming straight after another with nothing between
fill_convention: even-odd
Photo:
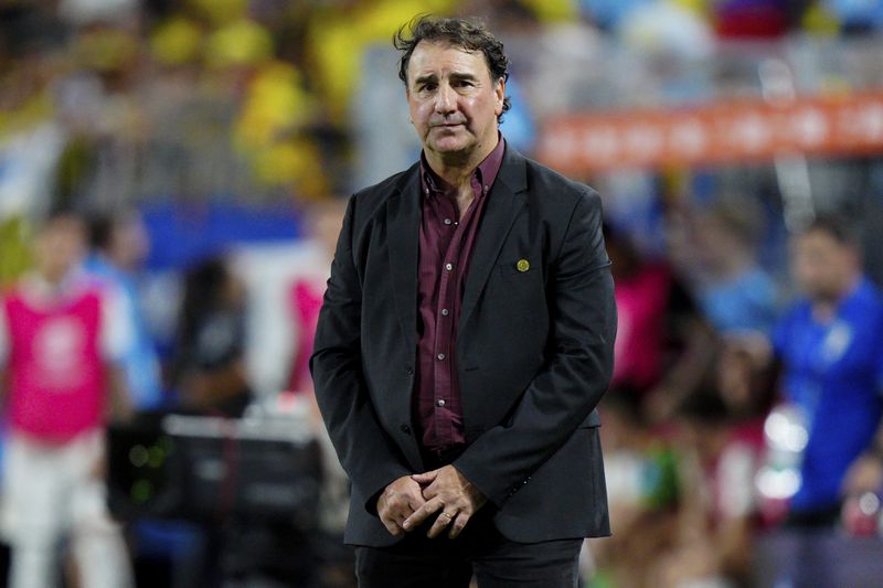
<instances>
[{"instance_id":1,"label":"dark suit jacket with small round gold pin, worn open","mask_svg":"<svg viewBox=\"0 0 883 588\"><path fill-rule=\"evenodd\" d=\"M426 471L412 417L419 188L415 164L350 200L310 359L352 481L345 542L355 545L397 541L376 496ZM468 448L454 466L512 541L609 534L595 407L610 378L616 307L600 227L591 188L507 147L461 306ZM519 271L520 259L530 269Z\"/></svg>"}]
</instances>

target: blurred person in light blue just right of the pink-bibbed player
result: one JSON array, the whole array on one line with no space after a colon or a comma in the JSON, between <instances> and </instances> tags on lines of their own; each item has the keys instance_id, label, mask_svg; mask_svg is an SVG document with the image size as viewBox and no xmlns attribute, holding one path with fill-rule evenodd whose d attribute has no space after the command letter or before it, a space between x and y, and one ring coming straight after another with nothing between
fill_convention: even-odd
<instances>
[{"instance_id":1,"label":"blurred person in light blue just right of the pink-bibbed player","mask_svg":"<svg viewBox=\"0 0 883 588\"><path fill-rule=\"evenodd\" d=\"M159 357L147 330L138 274L149 242L140 215L135 212L98 215L91 222L92 253L85 268L123 293L132 332L132 345L123 359L127 389L136 410L163 404Z\"/></svg>"}]
</instances>

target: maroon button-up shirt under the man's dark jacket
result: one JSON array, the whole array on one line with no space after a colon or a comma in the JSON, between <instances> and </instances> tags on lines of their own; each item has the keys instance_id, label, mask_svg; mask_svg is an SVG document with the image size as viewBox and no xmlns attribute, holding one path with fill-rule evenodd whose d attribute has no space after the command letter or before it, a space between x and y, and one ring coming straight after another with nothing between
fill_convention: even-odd
<instances>
[{"instance_id":1,"label":"maroon button-up shirt under the man's dark jacket","mask_svg":"<svg viewBox=\"0 0 883 588\"><path fill-rule=\"evenodd\" d=\"M417 417L423 447L450 449L465 442L457 377L457 324L478 226L503 160L503 138L472 174L475 199L459 216L456 194L444 192L421 159L423 215L417 278Z\"/></svg>"}]
</instances>

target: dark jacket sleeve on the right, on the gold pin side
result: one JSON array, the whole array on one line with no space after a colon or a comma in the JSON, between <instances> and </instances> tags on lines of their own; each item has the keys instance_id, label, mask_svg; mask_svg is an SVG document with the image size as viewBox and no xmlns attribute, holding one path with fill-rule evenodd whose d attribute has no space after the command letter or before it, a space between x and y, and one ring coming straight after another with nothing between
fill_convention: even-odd
<instances>
[{"instance_id":1,"label":"dark jacket sleeve on the right, on the gold pin side","mask_svg":"<svg viewBox=\"0 0 883 588\"><path fill-rule=\"evenodd\" d=\"M574 434L613 373L616 303L600 199L594 191L577 200L552 259L550 357L511 417L485 431L454 462L498 507Z\"/></svg>"}]
</instances>

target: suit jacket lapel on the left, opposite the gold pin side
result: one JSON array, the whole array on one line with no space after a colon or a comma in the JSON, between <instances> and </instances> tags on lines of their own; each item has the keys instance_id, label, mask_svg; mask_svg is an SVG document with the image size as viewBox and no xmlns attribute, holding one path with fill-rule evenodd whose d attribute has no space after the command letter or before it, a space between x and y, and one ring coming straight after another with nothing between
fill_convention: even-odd
<instances>
[{"instance_id":1,"label":"suit jacket lapel on the left, opposite the gold pin side","mask_svg":"<svg viewBox=\"0 0 883 588\"><path fill-rule=\"evenodd\" d=\"M417 255L421 226L419 165L407 170L386 206L390 279L408 349L417 346Z\"/></svg>"}]
</instances>

